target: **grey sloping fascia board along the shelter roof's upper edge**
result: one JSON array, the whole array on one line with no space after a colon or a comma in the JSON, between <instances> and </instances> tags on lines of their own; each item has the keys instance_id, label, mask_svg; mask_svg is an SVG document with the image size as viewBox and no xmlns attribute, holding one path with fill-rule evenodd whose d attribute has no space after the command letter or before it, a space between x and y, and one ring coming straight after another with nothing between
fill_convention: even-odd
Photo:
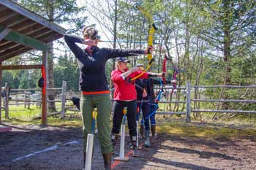
<instances>
[{"instance_id":1,"label":"grey sloping fascia board along the shelter roof's upper edge","mask_svg":"<svg viewBox=\"0 0 256 170\"><path fill-rule=\"evenodd\" d=\"M50 21L46 20L45 18L42 18L41 16L37 15L36 13L25 9L18 4L15 4L12 1L1 0L0 4L4 5L5 7L8 7L9 9L14 10L15 12L20 13L21 15L24 15L26 18L34 20L35 22L40 23L43 26L46 26L46 27L58 32L59 34L65 34L65 32L66 32L66 30L64 28L61 28L61 26L58 26L54 23L50 23Z\"/></svg>"}]
</instances>

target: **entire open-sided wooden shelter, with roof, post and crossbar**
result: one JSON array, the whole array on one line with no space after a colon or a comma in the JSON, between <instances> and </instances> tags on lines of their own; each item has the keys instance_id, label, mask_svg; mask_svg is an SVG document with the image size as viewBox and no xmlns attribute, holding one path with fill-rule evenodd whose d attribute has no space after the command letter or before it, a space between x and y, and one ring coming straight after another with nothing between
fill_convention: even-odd
<instances>
[{"instance_id":1,"label":"entire open-sided wooden shelter, with roof, post and crossbar","mask_svg":"<svg viewBox=\"0 0 256 170\"><path fill-rule=\"evenodd\" d=\"M65 29L50 23L10 0L0 1L0 85L2 71L10 69L41 69L44 85L42 88L42 125L47 124L47 80L48 80L48 42L61 38ZM42 64L3 66L6 61L29 50L42 51ZM0 88L1 94L1 88ZM0 97L1 108L1 97ZM1 123L1 109L0 109Z\"/></svg>"}]
</instances>

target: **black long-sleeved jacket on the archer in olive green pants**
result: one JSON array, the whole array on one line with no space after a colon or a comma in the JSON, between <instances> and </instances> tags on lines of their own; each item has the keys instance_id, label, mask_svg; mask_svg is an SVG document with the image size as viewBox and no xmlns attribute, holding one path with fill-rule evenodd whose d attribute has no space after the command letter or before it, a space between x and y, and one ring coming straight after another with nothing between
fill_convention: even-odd
<instances>
[{"instance_id":1,"label":"black long-sleeved jacket on the archer in olive green pants","mask_svg":"<svg viewBox=\"0 0 256 170\"><path fill-rule=\"evenodd\" d=\"M94 47L90 55L75 43L82 43L81 38L72 35L64 35L64 40L78 61L80 69L79 88L86 92L108 90L108 82L105 75L105 63L110 58L128 57L131 55L143 55L145 50L121 50Z\"/></svg>"}]
</instances>

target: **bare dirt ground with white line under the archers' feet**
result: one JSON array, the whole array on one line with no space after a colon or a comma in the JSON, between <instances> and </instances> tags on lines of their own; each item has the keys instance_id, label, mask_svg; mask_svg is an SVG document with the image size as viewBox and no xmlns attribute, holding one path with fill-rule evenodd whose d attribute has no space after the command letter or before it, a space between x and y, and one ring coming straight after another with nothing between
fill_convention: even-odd
<instances>
[{"instance_id":1,"label":"bare dirt ground with white line under the archers' feet","mask_svg":"<svg viewBox=\"0 0 256 170\"><path fill-rule=\"evenodd\" d=\"M143 147L140 157L129 155L128 162L112 161L113 169L256 169L256 138L204 139L158 134L151 147ZM12 127L0 133L0 169L82 169L80 128L48 126ZM140 142L143 142L140 139ZM118 149L118 146L116 146ZM113 155L115 158L118 155ZM93 169L103 169L96 135Z\"/></svg>"}]
</instances>

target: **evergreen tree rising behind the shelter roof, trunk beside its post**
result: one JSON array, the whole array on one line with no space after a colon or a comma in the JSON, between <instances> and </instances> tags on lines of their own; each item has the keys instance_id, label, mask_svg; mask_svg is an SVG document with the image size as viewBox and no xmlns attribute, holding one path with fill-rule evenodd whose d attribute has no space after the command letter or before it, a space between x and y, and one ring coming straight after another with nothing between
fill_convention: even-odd
<instances>
[{"instance_id":1,"label":"evergreen tree rising behind the shelter roof, trunk beside its post","mask_svg":"<svg viewBox=\"0 0 256 170\"><path fill-rule=\"evenodd\" d=\"M42 17L48 19L51 23L66 24L74 26L69 30L78 31L83 27L86 16L82 14L85 12L84 7L78 7L75 0L18 0L18 3L23 7L31 9ZM49 43L50 53L48 56L48 88L53 88L53 43ZM49 91L49 100L54 100L55 94ZM55 112L55 103L50 103L50 111Z\"/></svg>"}]
</instances>

